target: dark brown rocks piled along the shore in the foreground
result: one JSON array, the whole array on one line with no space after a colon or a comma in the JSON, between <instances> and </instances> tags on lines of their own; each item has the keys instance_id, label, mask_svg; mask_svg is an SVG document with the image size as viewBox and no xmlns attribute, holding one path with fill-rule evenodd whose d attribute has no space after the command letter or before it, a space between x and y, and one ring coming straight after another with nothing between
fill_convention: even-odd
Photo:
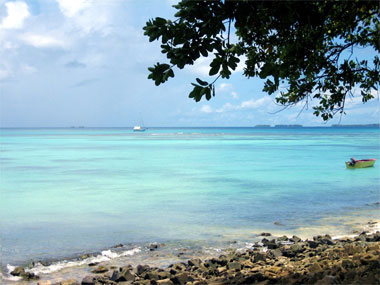
<instances>
[{"instance_id":1,"label":"dark brown rocks piled along the shore in the foreground","mask_svg":"<svg viewBox=\"0 0 380 285\"><path fill-rule=\"evenodd\" d=\"M58 283L38 281L38 276L21 267L11 274L38 285L380 283L380 232L341 239L261 236L261 242L247 249L231 249L218 258L194 258L167 268L89 264L92 275Z\"/></svg>"}]
</instances>

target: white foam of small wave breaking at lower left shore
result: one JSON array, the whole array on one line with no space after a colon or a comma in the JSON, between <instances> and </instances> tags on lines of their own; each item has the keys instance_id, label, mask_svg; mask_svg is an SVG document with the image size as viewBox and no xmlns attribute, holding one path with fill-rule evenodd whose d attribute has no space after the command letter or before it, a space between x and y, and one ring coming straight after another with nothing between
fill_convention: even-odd
<instances>
[{"instance_id":1,"label":"white foam of small wave breaking at lower left shore","mask_svg":"<svg viewBox=\"0 0 380 285\"><path fill-rule=\"evenodd\" d=\"M31 269L25 269L25 271L34 273L34 274L49 274L52 272L60 271L62 269L68 268L68 267L74 267L74 266L81 266L89 263L98 263L98 262L104 262L109 261L114 258L122 257L122 256L131 256L138 252L140 252L141 249L139 247L121 251L121 252L112 252L111 250L104 250L101 252L101 254L96 256L91 256L83 260L75 260L75 261L68 261L68 260L62 260L58 262L54 262L53 264L50 264L48 266L44 266L41 263L36 263L36 265ZM9 268L15 268L14 266L7 265L8 270ZM13 270L12 269L12 270ZM9 272L11 272L10 270Z\"/></svg>"}]
</instances>

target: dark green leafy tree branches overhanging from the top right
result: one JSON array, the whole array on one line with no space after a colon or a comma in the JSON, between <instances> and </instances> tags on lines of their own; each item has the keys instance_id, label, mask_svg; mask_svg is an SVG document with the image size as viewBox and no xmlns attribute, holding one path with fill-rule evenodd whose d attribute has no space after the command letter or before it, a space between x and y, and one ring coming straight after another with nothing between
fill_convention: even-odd
<instances>
[{"instance_id":1,"label":"dark green leafy tree branches overhanging from the top right","mask_svg":"<svg viewBox=\"0 0 380 285\"><path fill-rule=\"evenodd\" d=\"M174 77L174 67L211 57L211 82L191 83L189 97L197 102L215 96L216 80L228 79L241 59L243 75L265 80L263 91L276 93L277 103L313 101L324 120L344 113L354 90L363 102L378 90L378 1L181 1L174 7L174 20L157 17L144 27L169 60L148 68L148 78L160 85ZM370 60L357 57L358 48L371 49Z\"/></svg>"}]
</instances>

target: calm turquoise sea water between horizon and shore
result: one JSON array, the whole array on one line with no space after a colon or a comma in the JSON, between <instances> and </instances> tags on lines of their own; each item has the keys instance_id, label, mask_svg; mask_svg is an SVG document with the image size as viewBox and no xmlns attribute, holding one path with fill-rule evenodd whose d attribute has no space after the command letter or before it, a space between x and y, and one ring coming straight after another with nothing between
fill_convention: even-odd
<instances>
[{"instance_id":1,"label":"calm turquoise sea water between horizon and shore","mask_svg":"<svg viewBox=\"0 0 380 285\"><path fill-rule=\"evenodd\" d=\"M1 265L320 224L379 201L376 128L1 130ZM379 162L378 162L379 163Z\"/></svg>"}]
</instances>

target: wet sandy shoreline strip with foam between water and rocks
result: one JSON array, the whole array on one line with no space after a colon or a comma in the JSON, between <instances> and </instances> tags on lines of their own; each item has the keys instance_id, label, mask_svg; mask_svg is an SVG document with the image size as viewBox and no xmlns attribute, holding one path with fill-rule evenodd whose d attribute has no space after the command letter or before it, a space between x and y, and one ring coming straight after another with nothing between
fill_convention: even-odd
<instances>
[{"instance_id":1,"label":"wet sandy shoreline strip with foam between water and rocks","mask_svg":"<svg viewBox=\"0 0 380 285\"><path fill-rule=\"evenodd\" d=\"M352 234L343 234L343 235L337 235L337 236L328 236L329 239L332 241L344 241L344 240L355 240L360 235L363 235L365 233L366 235L375 235L377 232L377 236L379 236L379 230L380 230L380 220L370 220L367 223L361 224L360 232L355 229L355 233ZM323 233L323 232L320 232ZM325 235L325 233L323 233ZM80 258L75 258L71 260L60 260L55 262L41 262L41 263L35 263L34 267L24 266L24 267L18 267L18 270L21 272L21 275L24 274L23 277L13 276L14 274L10 274L12 271L16 269L16 267L8 267L8 274L4 276L5 274L2 274L3 276L0 276L0 280L4 280L7 282L6 284L61 284L60 282L71 280L72 283L67 284L80 284L82 278L85 278L86 276L103 276L99 275L97 273L91 273L91 271L96 270L96 268L107 268L106 272L110 272L114 270L115 268L124 268L127 264L129 266L132 266L131 268L134 268L133 270L137 270L136 268L140 266L141 264L149 264L150 267L156 268L155 270L165 270L168 269L168 266L170 264L176 264L176 263L186 263L188 260L191 259L200 259L202 261L206 261L209 259L215 259L218 258L221 254L226 254L228 252L246 252L250 251L252 248L259 248L261 252L266 252L270 250L270 246L268 247L265 242L268 242L270 239L271 242L273 241L275 243L278 243L278 240L281 240L281 238L285 235L279 235L279 234L269 234L269 233L261 233L256 236L256 238L252 238L251 242L238 242L238 241L231 241L229 244L229 247L225 248L202 248L197 249L191 249L182 247L179 248L178 253L171 252L168 254L166 251L172 251L173 248L169 248L172 245L166 245L166 244L159 244L159 243L150 243L143 248L143 246L139 247L131 247L132 245L116 245L111 247L108 250L103 250L100 253L90 253L90 254L83 254ZM291 236L288 234L288 236ZM321 237L321 235L317 235ZM298 238L301 242L304 241L310 241L315 240L316 238L312 239L310 236L307 238L301 237ZM377 239L377 237L375 238ZM380 241L380 236L379 236ZM267 240L267 241L266 241ZM289 240L289 239L288 239ZM264 243L263 243L264 241ZM286 245L286 241L284 245ZM182 246L186 245L185 242L181 244ZM144 252L143 257L137 257L136 255ZM379 251L380 253L380 251ZM131 259L134 259L134 262L131 262ZM132 265L131 265L132 264ZM23 270L23 271L22 271ZM104 268L103 268L104 270ZM17 271L17 270L16 270ZM100 271L102 271L100 269ZM24 273L22 273L24 272ZM104 273L104 272L103 272ZM137 274L137 272L135 272ZM38 279L37 277L38 276ZM69 278L73 277L73 278ZM104 277L104 276L103 276ZM102 278L103 278L102 277ZM112 276L108 276L111 278ZM104 278L108 278L107 276ZM138 277L136 275L136 277ZM78 283L75 283L74 280ZM157 280L156 280L157 281ZM379 280L380 281L380 280ZM66 284L66 283L62 283ZM84 284L84 283L82 283ZM114 283L105 283L105 284L114 284ZM132 284L132 283L131 283ZM133 283L133 284L143 284L143 283ZM149 283L150 284L150 283ZM153 284L153 283L152 283ZM155 283L154 283L155 284ZM160 284L160 283L159 283ZM163 283L164 284L164 283ZM171 283L168 283L171 284Z\"/></svg>"}]
</instances>

